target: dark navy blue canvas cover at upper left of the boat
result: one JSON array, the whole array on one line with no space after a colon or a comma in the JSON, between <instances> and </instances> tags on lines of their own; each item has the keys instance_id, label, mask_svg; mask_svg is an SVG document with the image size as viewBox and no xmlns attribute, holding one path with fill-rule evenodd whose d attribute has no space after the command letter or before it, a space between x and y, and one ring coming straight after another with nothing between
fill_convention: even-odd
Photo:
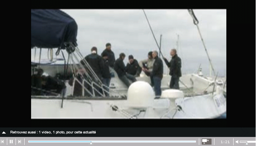
<instances>
[{"instance_id":1,"label":"dark navy blue canvas cover at upper left of the boat","mask_svg":"<svg viewBox=\"0 0 256 146\"><path fill-rule=\"evenodd\" d=\"M64 42L75 46L76 21L61 10L31 9L31 48L64 49Z\"/></svg>"}]
</instances>

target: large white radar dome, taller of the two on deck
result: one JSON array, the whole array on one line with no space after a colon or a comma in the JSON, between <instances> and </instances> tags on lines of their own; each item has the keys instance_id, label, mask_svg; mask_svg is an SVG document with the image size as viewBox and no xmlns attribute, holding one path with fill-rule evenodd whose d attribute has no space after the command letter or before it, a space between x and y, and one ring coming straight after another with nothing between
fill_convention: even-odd
<instances>
[{"instance_id":1,"label":"large white radar dome, taller of the two on deck","mask_svg":"<svg viewBox=\"0 0 256 146\"><path fill-rule=\"evenodd\" d=\"M129 86L127 94L127 102L129 107L153 107L155 94L149 83L144 81L136 81Z\"/></svg>"}]
</instances>

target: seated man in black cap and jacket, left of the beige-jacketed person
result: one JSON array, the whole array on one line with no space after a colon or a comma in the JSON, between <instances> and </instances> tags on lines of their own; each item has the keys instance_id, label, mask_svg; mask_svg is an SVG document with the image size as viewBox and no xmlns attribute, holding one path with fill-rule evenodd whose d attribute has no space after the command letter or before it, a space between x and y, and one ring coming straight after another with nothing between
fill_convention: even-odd
<instances>
[{"instance_id":1,"label":"seated man in black cap and jacket, left of the beige-jacketed person","mask_svg":"<svg viewBox=\"0 0 256 146\"><path fill-rule=\"evenodd\" d=\"M140 76L141 73L141 67L138 65L138 61L136 59L133 59L132 55L128 56L129 62L127 63L125 67L125 71L128 74L133 75L134 77Z\"/></svg>"}]
</instances>

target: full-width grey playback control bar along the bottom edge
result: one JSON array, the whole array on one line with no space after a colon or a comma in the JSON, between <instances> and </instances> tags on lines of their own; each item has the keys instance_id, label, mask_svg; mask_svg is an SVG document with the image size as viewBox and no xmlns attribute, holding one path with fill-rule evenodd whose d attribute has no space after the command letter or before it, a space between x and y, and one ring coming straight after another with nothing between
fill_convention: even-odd
<instances>
[{"instance_id":1,"label":"full-width grey playback control bar along the bottom edge","mask_svg":"<svg viewBox=\"0 0 256 146\"><path fill-rule=\"evenodd\" d=\"M0 146L255 146L255 144L255 137L0 137Z\"/></svg>"}]
</instances>

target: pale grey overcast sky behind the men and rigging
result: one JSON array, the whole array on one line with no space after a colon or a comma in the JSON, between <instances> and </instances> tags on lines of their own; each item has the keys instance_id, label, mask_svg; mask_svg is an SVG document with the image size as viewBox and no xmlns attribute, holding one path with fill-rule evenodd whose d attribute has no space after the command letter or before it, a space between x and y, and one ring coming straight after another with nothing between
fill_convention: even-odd
<instances>
[{"instance_id":1,"label":"pale grey overcast sky behind the men and rigging","mask_svg":"<svg viewBox=\"0 0 256 146\"><path fill-rule=\"evenodd\" d=\"M145 59L149 51L158 50L142 9L62 9L78 25L77 44L85 57L95 46L98 54L111 43L116 59L121 52L133 55L138 61ZM209 57L217 74L226 75L226 9L193 9L204 39ZM209 74L209 61L199 32L187 9L145 9L158 45L162 34L161 51L170 60L171 48L177 48L182 59L182 73L195 72L201 64L204 74ZM55 54L55 51L54 51ZM60 53L61 55L61 53ZM67 53L65 53L67 57ZM39 50L37 50L37 58ZM47 50L42 58L47 58ZM61 56L59 56L61 57ZM34 60L34 49L31 50ZM164 65L165 73L167 66ZM213 72L212 72L213 74Z\"/></svg>"}]
</instances>

